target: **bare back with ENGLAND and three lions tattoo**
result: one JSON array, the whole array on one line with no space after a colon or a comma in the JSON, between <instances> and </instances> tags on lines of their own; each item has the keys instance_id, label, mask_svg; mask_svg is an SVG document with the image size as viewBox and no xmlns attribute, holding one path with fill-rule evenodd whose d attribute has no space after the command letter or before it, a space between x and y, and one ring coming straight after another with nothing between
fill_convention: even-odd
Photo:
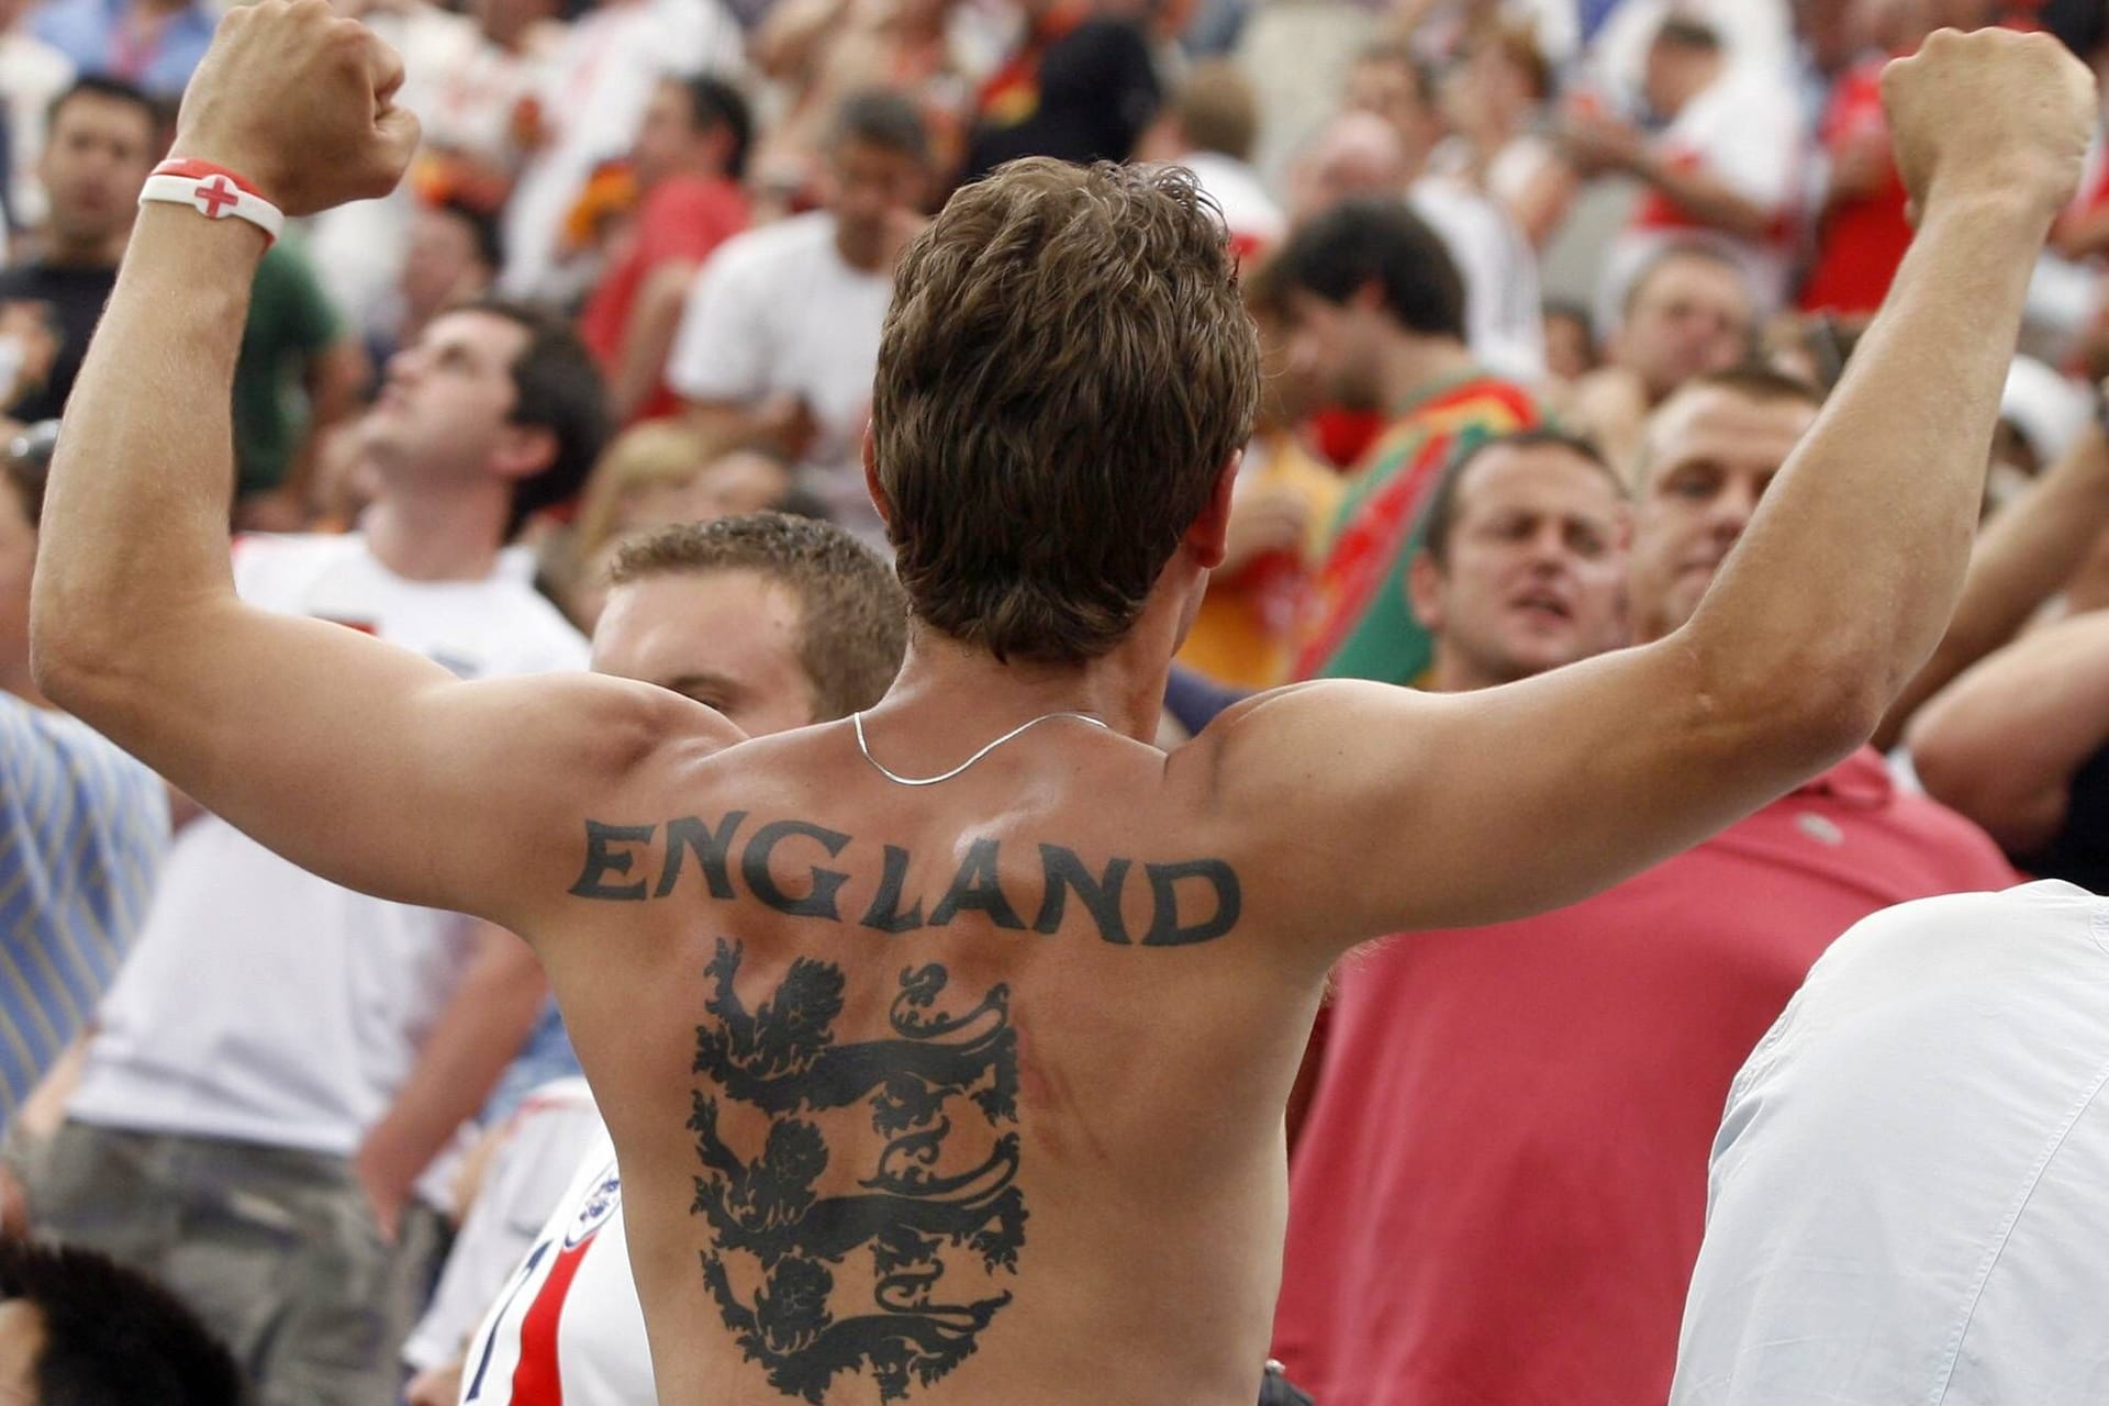
<instances>
[{"instance_id":1,"label":"bare back with ENGLAND and three lions tattoo","mask_svg":"<svg viewBox=\"0 0 2109 1406\"><path fill-rule=\"evenodd\" d=\"M546 949L664 1400L1251 1404L1322 963L1189 790L1073 721L907 788L835 723L582 824Z\"/></svg>"}]
</instances>

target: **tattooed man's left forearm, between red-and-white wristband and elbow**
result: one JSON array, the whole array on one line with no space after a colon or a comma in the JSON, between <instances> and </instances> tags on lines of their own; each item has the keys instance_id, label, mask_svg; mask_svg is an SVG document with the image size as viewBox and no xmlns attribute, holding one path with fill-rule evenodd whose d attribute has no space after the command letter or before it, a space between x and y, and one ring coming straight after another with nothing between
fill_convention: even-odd
<instances>
[{"instance_id":1,"label":"tattooed man's left forearm, between red-and-white wristband and elbow","mask_svg":"<svg viewBox=\"0 0 2109 1406\"><path fill-rule=\"evenodd\" d=\"M78 689L171 611L234 594L230 388L262 255L240 219L139 211L44 508L32 643L61 706L80 710Z\"/></svg>"}]
</instances>

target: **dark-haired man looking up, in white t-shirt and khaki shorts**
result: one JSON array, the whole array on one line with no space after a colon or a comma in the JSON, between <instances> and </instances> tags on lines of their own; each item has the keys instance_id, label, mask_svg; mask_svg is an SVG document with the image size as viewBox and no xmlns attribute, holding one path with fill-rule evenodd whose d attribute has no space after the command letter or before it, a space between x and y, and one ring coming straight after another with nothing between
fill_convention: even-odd
<instances>
[{"instance_id":1,"label":"dark-haired man looking up, in white t-shirt and khaki shorts","mask_svg":"<svg viewBox=\"0 0 2109 1406\"><path fill-rule=\"evenodd\" d=\"M447 314L390 363L361 434L380 485L363 531L247 538L236 590L460 677L582 668L502 552L605 438L576 335L504 304ZM337 887L198 816L32 1168L34 1216L188 1298L262 1406L388 1406L437 1237L420 1174L544 991L512 934Z\"/></svg>"}]
</instances>

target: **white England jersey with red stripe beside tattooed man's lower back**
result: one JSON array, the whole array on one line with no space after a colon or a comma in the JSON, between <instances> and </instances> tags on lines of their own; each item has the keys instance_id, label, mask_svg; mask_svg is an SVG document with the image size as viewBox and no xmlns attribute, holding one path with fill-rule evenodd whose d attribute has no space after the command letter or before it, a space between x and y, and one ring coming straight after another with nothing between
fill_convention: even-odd
<instances>
[{"instance_id":1,"label":"white England jersey with red stripe beside tattooed man's lower back","mask_svg":"<svg viewBox=\"0 0 2109 1406\"><path fill-rule=\"evenodd\" d=\"M462 1406L565 1402L658 1406L622 1174L605 1134L491 1305L462 1370Z\"/></svg>"}]
</instances>

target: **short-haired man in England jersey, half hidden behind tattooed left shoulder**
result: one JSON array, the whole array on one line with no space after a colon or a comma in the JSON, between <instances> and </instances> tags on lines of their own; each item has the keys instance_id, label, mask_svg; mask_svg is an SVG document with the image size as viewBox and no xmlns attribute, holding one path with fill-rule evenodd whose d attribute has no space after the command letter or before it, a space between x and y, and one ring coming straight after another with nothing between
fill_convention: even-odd
<instances>
[{"instance_id":1,"label":"short-haired man in England jersey, half hidden behind tattooed left shoulder","mask_svg":"<svg viewBox=\"0 0 2109 1406\"><path fill-rule=\"evenodd\" d=\"M869 708L905 649L907 594L879 556L827 523L763 512L666 527L626 548L593 668L690 694L759 738ZM544 1161L548 1136L576 1136L582 1090L559 1081L523 1107L523 1136L544 1138ZM555 1210L510 1151L498 1153L462 1248L496 1239L496 1227L548 1223L523 1261L519 1250L496 1267L449 1261L434 1311L405 1349L424 1370L411 1406L458 1395L475 1406L654 1406L614 1143L593 1128ZM481 1296L464 1294L464 1280L481 1280ZM475 1298L466 1320L456 1311L464 1298ZM477 1315L483 1328L464 1345Z\"/></svg>"}]
</instances>

